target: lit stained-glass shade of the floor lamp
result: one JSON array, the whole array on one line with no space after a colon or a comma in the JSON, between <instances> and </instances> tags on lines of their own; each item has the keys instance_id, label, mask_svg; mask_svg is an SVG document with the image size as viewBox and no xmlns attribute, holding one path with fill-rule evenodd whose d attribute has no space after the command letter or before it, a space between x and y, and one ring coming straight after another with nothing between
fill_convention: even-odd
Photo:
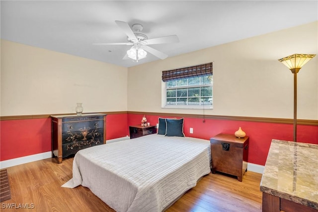
<instances>
[{"instance_id":1,"label":"lit stained-glass shade of the floor lamp","mask_svg":"<svg viewBox=\"0 0 318 212\"><path fill-rule=\"evenodd\" d=\"M278 61L287 66L293 73L298 73L298 71L315 56L316 54L292 54L278 59Z\"/></svg>"}]
</instances>

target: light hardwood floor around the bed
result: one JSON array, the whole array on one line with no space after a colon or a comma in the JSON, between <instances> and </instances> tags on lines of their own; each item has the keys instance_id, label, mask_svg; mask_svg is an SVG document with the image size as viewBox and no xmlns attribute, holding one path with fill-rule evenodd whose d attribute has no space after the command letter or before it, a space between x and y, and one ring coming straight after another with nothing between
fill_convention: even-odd
<instances>
[{"instance_id":1,"label":"light hardwood floor around the bed","mask_svg":"<svg viewBox=\"0 0 318 212\"><path fill-rule=\"evenodd\" d=\"M73 158L61 164L45 159L7 168L11 199L0 204L0 211L113 212L88 188L61 187L72 178L72 165ZM246 172L242 182L210 173L166 212L261 212L260 180L254 172Z\"/></svg>"}]
</instances>

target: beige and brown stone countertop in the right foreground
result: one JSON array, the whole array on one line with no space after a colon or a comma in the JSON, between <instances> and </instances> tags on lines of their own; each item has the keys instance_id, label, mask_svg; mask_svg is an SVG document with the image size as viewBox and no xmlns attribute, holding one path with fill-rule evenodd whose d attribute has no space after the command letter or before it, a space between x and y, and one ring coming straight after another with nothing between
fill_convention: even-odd
<instances>
[{"instance_id":1,"label":"beige and brown stone countertop in the right foreground","mask_svg":"<svg viewBox=\"0 0 318 212\"><path fill-rule=\"evenodd\" d=\"M318 209L318 145L273 139L260 191Z\"/></svg>"}]
</instances>

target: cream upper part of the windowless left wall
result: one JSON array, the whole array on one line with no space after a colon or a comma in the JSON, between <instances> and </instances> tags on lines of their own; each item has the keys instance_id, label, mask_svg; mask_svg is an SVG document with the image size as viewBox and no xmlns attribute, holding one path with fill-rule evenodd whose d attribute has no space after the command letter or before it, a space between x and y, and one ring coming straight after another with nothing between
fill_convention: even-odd
<instances>
[{"instance_id":1,"label":"cream upper part of the windowless left wall","mask_svg":"<svg viewBox=\"0 0 318 212\"><path fill-rule=\"evenodd\" d=\"M1 40L0 115L127 110L127 68Z\"/></svg>"}]
</instances>

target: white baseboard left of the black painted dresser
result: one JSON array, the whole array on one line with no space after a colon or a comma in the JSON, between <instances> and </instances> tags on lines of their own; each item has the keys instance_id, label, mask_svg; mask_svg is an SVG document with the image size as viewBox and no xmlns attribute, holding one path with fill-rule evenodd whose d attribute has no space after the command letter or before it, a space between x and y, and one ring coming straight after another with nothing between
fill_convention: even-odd
<instances>
[{"instance_id":1,"label":"white baseboard left of the black painted dresser","mask_svg":"<svg viewBox=\"0 0 318 212\"><path fill-rule=\"evenodd\" d=\"M20 158L0 161L0 168L4 169L11 166L17 166L24 163L29 163L37 160L43 160L52 157L52 152L43 152L35 155L28 155Z\"/></svg>"}]
</instances>

